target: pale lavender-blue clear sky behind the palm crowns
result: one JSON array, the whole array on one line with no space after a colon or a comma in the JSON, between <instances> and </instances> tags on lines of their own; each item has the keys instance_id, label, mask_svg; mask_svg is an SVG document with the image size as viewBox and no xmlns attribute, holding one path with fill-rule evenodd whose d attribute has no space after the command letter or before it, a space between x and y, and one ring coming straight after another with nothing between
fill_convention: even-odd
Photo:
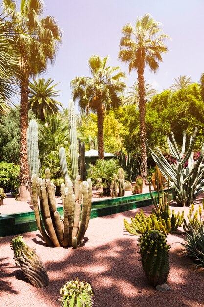
<instances>
[{"instance_id":1,"label":"pale lavender-blue clear sky behind the palm crowns","mask_svg":"<svg viewBox=\"0 0 204 307\"><path fill-rule=\"evenodd\" d=\"M150 13L160 21L168 53L163 55L156 74L145 70L146 82L159 92L170 87L180 75L198 82L204 73L204 0L44 0L44 15L56 17L63 31L63 43L54 66L42 77L60 82L58 101L68 107L70 81L76 76L90 76L88 59L92 54L110 56L110 66L120 66L133 85L136 71L118 60L122 27Z\"/></svg>"}]
</instances>

